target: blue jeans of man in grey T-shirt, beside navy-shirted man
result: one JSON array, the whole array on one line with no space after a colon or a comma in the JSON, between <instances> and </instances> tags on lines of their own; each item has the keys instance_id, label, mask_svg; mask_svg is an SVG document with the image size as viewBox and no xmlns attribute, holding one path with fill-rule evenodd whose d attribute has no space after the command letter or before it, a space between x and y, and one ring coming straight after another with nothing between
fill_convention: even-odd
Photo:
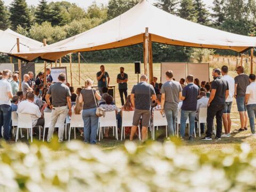
<instances>
[{"instance_id":1,"label":"blue jeans of man in grey T-shirt, beside navy-shirted man","mask_svg":"<svg viewBox=\"0 0 256 192\"><path fill-rule=\"evenodd\" d=\"M178 116L178 109L165 109L165 116L167 119L168 134L174 135L176 130L176 118Z\"/></svg>"}]
</instances>

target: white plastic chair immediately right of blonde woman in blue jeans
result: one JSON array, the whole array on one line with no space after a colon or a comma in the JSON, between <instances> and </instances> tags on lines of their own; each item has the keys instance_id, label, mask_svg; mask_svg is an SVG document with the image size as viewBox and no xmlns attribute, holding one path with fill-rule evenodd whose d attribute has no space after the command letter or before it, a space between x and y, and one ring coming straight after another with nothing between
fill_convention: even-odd
<instances>
[{"instance_id":1,"label":"white plastic chair immediately right of blonde woman in blue jeans","mask_svg":"<svg viewBox=\"0 0 256 192\"><path fill-rule=\"evenodd\" d=\"M116 132L116 139L118 140L116 111L107 111L105 113L105 117L99 117L99 141L101 135L103 134L102 127L114 127Z\"/></svg>"}]
</instances>

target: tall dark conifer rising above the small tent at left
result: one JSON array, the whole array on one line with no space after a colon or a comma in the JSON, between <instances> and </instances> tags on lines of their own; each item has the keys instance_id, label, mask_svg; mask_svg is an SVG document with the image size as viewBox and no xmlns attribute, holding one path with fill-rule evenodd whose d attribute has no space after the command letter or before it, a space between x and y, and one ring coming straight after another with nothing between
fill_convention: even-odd
<instances>
[{"instance_id":1,"label":"tall dark conifer rising above the small tent at left","mask_svg":"<svg viewBox=\"0 0 256 192\"><path fill-rule=\"evenodd\" d=\"M22 28L30 27L30 12L26 0L13 0L10 5L10 20L12 29L16 30L20 25Z\"/></svg>"}]
</instances>

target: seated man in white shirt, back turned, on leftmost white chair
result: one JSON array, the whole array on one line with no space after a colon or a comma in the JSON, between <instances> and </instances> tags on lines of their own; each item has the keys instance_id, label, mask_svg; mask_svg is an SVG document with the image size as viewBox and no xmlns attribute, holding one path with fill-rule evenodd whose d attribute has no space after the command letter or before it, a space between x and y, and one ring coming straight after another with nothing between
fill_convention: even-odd
<instances>
[{"instance_id":1,"label":"seated man in white shirt, back turned, on leftmost white chair","mask_svg":"<svg viewBox=\"0 0 256 192\"><path fill-rule=\"evenodd\" d=\"M27 94L27 100L20 102L17 113L30 114L33 127L44 126L44 118L39 110L39 107L34 103L35 95L29 92Z\"/></svg>"}]
</instances>

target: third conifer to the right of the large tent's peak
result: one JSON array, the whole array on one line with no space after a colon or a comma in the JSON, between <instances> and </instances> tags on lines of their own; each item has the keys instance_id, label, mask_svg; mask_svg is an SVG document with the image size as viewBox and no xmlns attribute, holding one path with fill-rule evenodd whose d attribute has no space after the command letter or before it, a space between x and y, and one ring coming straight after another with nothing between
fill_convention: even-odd
<instances>
[{"instance_id":1,"label":"third conifer to the right of the large tent's peak","mask_svg":"<svg viewBox=\"0 0 256 192\"><path fill-rule=\"evenodd\" d=\"M202 0L194 0L196 22L202 25L209 25L209 11L205 8Z\"/></svg>"}]
</instances>

